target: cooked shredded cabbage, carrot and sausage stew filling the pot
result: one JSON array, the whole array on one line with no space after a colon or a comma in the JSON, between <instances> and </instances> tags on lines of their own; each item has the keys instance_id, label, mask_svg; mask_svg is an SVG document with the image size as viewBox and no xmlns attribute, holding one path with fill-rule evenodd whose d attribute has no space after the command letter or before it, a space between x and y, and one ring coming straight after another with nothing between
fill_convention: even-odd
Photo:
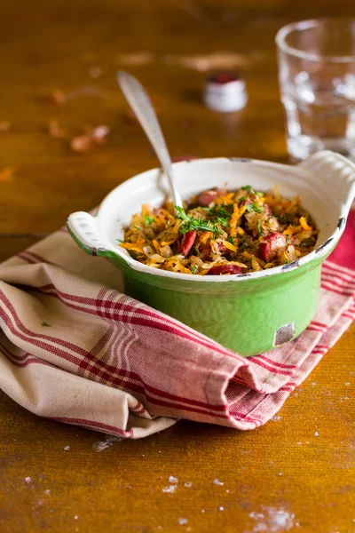
<instances>
[{"instance_id":1,"label":"cooked shredded cabbage, carrot and sausage stew filling the pot","mask_svg":"<svg viewBox=\"0 0 355 533\"><path fill-rule=\"evenodd\" d=\"M314 249L319 230L298 196L251 186L212 188L184 203L144 204L120 246L149 267L196 275L257 272L296 261Z\"/></svg>"}]
</instances>

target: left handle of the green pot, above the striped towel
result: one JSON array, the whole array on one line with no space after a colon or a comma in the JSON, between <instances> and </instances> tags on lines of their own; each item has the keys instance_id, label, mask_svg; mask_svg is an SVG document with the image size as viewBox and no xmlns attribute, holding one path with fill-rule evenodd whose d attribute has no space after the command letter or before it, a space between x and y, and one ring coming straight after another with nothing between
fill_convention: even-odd
<instances>
[{"instance_id":1,"label":"left handle of the green pot, above the striped towel","mask_svg":"<svg viewBox=\"0 0 355 533\"><path fill-rule=\"evenodd\" d=\"M95 217L85 211L76 211L67 219L67 230L75 243L86 253L93 256L110 257L114 248L101 235Z\"/></svg>"}]
</instances>

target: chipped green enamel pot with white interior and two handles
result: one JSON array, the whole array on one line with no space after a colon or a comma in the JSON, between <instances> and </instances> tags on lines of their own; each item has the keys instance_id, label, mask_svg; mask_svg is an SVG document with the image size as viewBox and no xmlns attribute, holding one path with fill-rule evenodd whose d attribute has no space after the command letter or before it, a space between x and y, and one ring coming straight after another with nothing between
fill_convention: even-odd
<instances>
[{"instance_id":1,"label":"chipped green enamel pot with white interior and two handles","mask_svg":"<svg viewBox=\"0 0 355 533\"><path fill-rule=\"evenodd\" d=\"M239 354L258 354L300 335L317 309L321 263L343 233L355 195L355 165L327 151L296 166L217 158L176 163L174 173L183 198L225 182L232 189L248 184L258 190L277 184L281 195L298 194L319 227L317 248L293 263L253 274L194 276L146 267L119 248L117 239L142 203L159 206L169 194L158 169L116 187L96 217L70 215L67 227L75 242L91 255L111 259L122 270L128 295Z\"/></svg>"}]
</instances>

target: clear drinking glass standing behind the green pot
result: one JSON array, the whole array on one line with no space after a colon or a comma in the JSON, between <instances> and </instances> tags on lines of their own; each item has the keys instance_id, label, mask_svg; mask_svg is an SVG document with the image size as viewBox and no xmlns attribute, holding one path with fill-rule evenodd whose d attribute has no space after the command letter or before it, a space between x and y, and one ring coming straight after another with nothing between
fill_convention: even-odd
<instances>
[{"instance_id":1,"label":"clear drinking glass standing behind the green pot","mask_svg":"<svg viewBox=\"0 0 355 533\"><path fill-rule=\"evenodd\" d=\"M288 153L355 159L355 20L304 20L276 36Z\"/></svg>"}]
</instances>

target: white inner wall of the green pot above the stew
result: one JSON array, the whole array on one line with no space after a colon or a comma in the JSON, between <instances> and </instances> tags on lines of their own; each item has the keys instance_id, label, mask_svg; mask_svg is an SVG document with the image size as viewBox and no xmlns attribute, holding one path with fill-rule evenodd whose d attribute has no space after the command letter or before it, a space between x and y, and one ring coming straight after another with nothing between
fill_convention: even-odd
<instances>
[{"instance_id":1,"label":"white inner wall of the green pot above the stew","mask_svg":"<svg viewBox=\"0 0 355 533\"><path fill-rule=\"evenodd\" d=\"M259 161L248 163L227 158L201 159L173 166L183 199L211 187L226 186L233 190L251 185L255 190L266 191L277 185L282 196L300 196L302 206L320 230L317 246L335 232L340 216L339 203L310 171L301 166ZM97 216L99 231L122 255L130 257L117 243L117 239L123 238L123 228L130 223L131 216L141 210L143 203L158 207L168 197L167 181L159 169L128 179L101 203Z\"/></svg>"}]
</instances>

